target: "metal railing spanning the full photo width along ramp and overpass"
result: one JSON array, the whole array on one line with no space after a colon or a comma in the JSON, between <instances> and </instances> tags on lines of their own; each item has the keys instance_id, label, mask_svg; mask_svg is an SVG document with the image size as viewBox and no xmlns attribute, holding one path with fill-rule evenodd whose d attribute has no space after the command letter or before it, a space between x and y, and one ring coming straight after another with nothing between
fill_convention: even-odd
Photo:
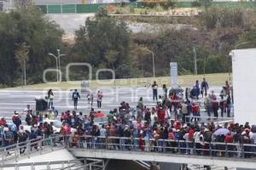
<instances>
[{"instance_id":1,"label":"metal railing spanning the full photo width along ramp and overpass","mask_svg":"<svg viewBox=\"0 0 256 170\"><path fill-rule=\"evenodd\" d=\"M58 149L90 149L90 150L122 150L122 151L145 151L161 152L165 154L191 155L191 156L219 156L236 157L238 159L256 156L256 144L185 141L172 139L148 139L148 138L125 138L104 136L75 136L79 140L74 141L74 136L55 136L49 139L33 139L26 142L9 145L0 148L0 162L4 167L5 161L20 156L20 150L26 150L25 156L32 153L42 154L50 150ZM57 145L59 144L59 145ZM47 146L47 147L45 147ZM47 148L49 150L47 150ZM129 154L129 153L128 153ZM1 160L2 158L2 160Z\"/></svg>"}]
</instances>

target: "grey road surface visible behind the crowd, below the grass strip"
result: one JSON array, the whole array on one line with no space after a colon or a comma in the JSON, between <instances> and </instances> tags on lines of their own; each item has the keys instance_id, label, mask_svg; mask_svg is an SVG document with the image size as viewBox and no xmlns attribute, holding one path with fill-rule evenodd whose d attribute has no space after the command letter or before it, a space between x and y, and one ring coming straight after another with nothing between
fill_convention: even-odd
<instances>
[{"instance_id":1,"label":"grey road surface visible behind the crowd, below the grass strip","mask_svg":"<svg viewBox=\"0 0 256 170\"><path fill-rule=\"evenodd\" d=\"M213 87L210 90L214 90L215 94L219 94L221 88ZM156 105L156 102L152 99L151 88L101 88L103 93L102 109L96 109L96 97L94 99L93 108L96 111L102 111L108 113L114 108L119 107L121 101L128 102L131 108L135 108L139 97L143 97L144 105L151 108ZM53 90L55 94L54 105L55 108L61 111L73 111L72 91L57 91ZM96 91L94 91L96 94ZM159 94L162 94L161 88ZM35 98L39 96L46 96L47 90L0 90L0 117L4 116L8 121L11 120L11 116L14 111L19 113L23 112L26 105L31 105L32 110L35 110L36 101ZM201 99L200 99L201 100ZM90 105L85 97L85 94L81 94L79 100L78 111L82 111L84 114L88 114ZM61 114L59 114L61 115ZM201 108L201 116L207 116L207 113ZM24 117L24 116L23 116Z\"/></svg>"}]
</instances>

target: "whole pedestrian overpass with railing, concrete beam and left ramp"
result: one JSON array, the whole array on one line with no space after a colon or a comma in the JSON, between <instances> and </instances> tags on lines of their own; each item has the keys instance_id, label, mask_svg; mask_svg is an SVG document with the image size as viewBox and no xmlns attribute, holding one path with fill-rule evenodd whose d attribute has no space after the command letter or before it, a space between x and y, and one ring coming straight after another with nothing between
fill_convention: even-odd
<instances>
[{"instance_id":1,"label":"whole pedestrian overpass with railing, concrete beam and left ramp","mask_svg":"<svg viewBox=\"0 0 256 170\"><path fill-rule=\"evenodd\" d=\"M21 166L31 166L31 169L35 170L35 165L40 166L48 166L50 164L59 164L61 166L59 169L65 169L64 167L70 167L70 162L74 163L78 162L76 159L96 159L96 160L130 160L130 161L154 161L154 162L167 162L167 163L180 163L180 164L190 164L190 165L207 165L207 166L218 166L218 167L236 167L236 168L247 168L247 169L255 169L256 167L256 157L255 151L248 152L245 147L252 147L255 149L255 144L244 144L241 146L241 151L238 152L236 150L227 150L230 147L227 147L228 144L224 144L224 150L219 150L218 152L222 152L223 156L216 155L216 147L210 147L208 151L208 155L198 156L196 155L196 148L190 147L183 148L185 146L183 141L177 141L177 145L173 147L168 147L166 142L174 142L170 140L162 140L162 146L156 146L157 149L150 149L148 142L144 139L144 149L143 151L140 149L141 146L138 146L134 141L137 139L132 139L132 143L127 143L130 138L119 138L119 137L92 137L85 136L83 137L83 142L73 144L71 137L61 137L56 136L50 139L37 139L28 140L24 143L14 144L6 148L0 149L0 169L9 170L12 167L13 169L22 169L16 168L17 165ZM66 139L66 140L60 140ZM117 140L118 139L118 140ZM139 139L142 140L142 139ZM154 141L152 139L151 141ZM217 146L220 143L212 143L212 146ZM192 146L192 144L191 144ZM26 152L24 154L20 154L20 149L26 148ZM172 149L172 150L170 150ZM72 157L67 159L67 156L63 154L59 154L58 150L67 150ZM176 150L175 152L172 152ZM188 151L189 152L184 152ZM49 156L51 152L55 152L55 155ZM234 152L234 156L229 156L230 153ZM186 154L187 153L187 154ZM237 153L241 153L241 157L237 157ZM243 156L247 153L251 154L251 158L244 158ZM33 156L41 156L38 159L42 160L44 157L44 162L32 161ZM55 160L56 156L60 156L61 160ZM30 160L30 161L27 161ZM21 161L20 161L21 160ZM23 161L22 161L23 160ZM30 163L29 163L30 162ZM36 162L36 163L35 163ZM102 164L99 169L105 169L104 161L97 161ZM86 165L86 164L84 164ZM79 167L83 165L78 165ZM97 165L98 166L98 165ZM9 168L7 168L9 167ZM15 168L14 168L15 167ZM50 169L48 168L47 169ZM73 167L73 166L71 166ZM90 169L91 166L88 167ZM29 169L29 168L26 168ZM72 169L72 168L69 168ZM79 169L79 168L78 168Z\"/></svg>"}]
</instances>

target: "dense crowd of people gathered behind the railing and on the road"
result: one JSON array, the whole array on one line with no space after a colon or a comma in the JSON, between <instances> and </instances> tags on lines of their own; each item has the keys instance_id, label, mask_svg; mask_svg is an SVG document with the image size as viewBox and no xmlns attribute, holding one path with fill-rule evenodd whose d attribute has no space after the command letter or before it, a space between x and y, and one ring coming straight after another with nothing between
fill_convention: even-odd
<instances>
[{"instance_id":1,"label":"dense crowd of people gathered behind the railing and on the road","mask_svg":"<svg viewBox=\"0 0 256 170\"><path fill-rule=\"evenodd\" d=\"M156 87L158 85L154 82L152 88L156 105L152 108L144 105L143 98L138 100L136 108L131 108L129 103L122 101L118 108L109 112L108 120L100 124L96 122L96 115L99 112L94 111L93 108L89 114L65 111L61 113L59 132L55 132L53 122L45 121L57 119L58 111L53 105L50 105L51 109L44 116L40 112L33 114L32 109L27 105L25 121L30 129L24 128L22 115L15 112L12 122L6 122L4 118L0 120L0 142L2 147L5 147L28 139L49 139L58 133L68 136L61 140L68 142L70 147L78 148L96 149L103 144L109 150L165 151L166 148L172 153L189 155L194 150L196 155L224 156L225 144L228 144L229 156L254 156L256 145L244 144L256 144L255 126L249 125L248 122L244 125L234 122L220 125L215 124L214 120L203 123L198 119L201 110L198 105L200 94L205 96L204 105L209 116L213 112L218 118L218 109L221 110L221 116L225 111L227 116L230 116L229 105L233 100L230 97L228 82L220 93L220 101L217 100L214 92L207 94L209 86L205 79L201 82L201 88L198 81L195 82L192 90L187 88L184 99L180 95L182 90L171 89L167 94L168 90L164 85L164 94L158 95ZM78 92L73 93L74 100L79 98L79 94L76 93ZM101 99L98 100L101 102L102 93L98 92L98 94L101 95L99 96ZM102 104L97 102L97 106L101 107ZM170 113L174 116L172 117ZM192 118L186 120L189 114L192 114ZM117 137L117 139L109 137ZM122 137L125 139L119 139ZM223 144L214 144L214 142ZM23 152L24 150L20 150L20 153Z\"/></svg>"}]
</instances>

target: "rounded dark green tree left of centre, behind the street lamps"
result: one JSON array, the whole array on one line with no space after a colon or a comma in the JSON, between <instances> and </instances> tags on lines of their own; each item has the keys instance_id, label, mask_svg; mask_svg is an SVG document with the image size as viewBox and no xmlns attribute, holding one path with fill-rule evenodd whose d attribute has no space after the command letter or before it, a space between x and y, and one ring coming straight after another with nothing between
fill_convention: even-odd
<instances>
[{"instance_id":1,"label":"rounded dark green tree left of centre, behind the street lamps","mask_svg":"<svg viewBox=\"0 0 256 170\"><path fill-rule=\"evenodd\" d=\"M73 52L75 56L80 56L79 60L86 61L95 68L102 68L104 65L116 71L116 77L123 77L124 75L119 74L123 72L120 65L131 64L130 36L124 21L113 20L101 8L94 20L87 19L85 26L76 31ZM126 73L129 74L129 71Z\"/></svg>"}]
</instances>

